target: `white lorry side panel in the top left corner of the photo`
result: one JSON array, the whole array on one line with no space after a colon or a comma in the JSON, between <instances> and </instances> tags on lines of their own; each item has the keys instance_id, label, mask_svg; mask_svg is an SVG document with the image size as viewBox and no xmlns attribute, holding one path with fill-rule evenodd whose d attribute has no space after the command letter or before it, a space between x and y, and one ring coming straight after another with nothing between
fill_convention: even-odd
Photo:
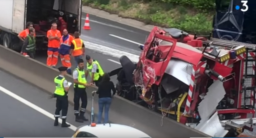
<instances>
[{"instance_id":1,"label":"white lorry side panel in the top left corner of the photo","mask_svg":"<svg viewBox=\"0 0 256 138\"><path fill-rule=\"evenodd\" d=\"M13 0L0 0L0 26L12 30Z\"/></svg>"}]
</instances>

